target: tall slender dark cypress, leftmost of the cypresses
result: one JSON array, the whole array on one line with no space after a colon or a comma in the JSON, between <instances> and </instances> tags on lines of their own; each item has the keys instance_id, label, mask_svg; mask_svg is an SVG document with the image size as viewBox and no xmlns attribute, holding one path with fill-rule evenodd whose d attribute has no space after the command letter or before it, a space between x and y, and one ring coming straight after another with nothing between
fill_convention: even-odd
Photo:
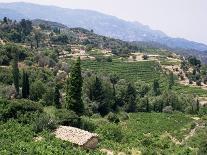
<instances>
[{"instance_id":1,"label":"tall slender dark cypress, leftmost of the cypresses","mask_svg":"<svg viewBox=\"0 0 207 155\"><path fill-rule=\"evenodd\" d=\"M12 73L13 73L14 86L15 86L17 95L19 95L18 49L14 45L11 45L10 48L11 48L11 53L13 53Z\"/></svg>"}]
</instances>

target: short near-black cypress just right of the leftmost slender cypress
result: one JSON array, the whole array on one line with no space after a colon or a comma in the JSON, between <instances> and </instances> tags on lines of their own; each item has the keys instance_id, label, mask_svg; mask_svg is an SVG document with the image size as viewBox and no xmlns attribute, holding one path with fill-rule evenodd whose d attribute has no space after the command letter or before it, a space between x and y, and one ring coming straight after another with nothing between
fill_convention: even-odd
<instances>
[{"instance_id":1,"label":"short near-black cypress just right of the leftmost slender cypress","mask_svg":"<svg viewBox=\"0 0 207 155\"><path fill-rule=\"evenodd\" d=\"M29 76L27 72L23 71L23 76L22 76L22 97L23 98L28 98L29 97Z\"/></svg>"}]
</instances>

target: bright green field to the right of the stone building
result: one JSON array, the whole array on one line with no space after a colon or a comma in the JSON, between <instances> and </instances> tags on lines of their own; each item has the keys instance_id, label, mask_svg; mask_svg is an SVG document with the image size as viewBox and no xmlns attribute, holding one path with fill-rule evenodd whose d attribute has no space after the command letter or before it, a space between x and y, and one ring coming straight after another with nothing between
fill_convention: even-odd
<instances>
[{"instance_id":1,"label":"bright green field to the right of the stone building","mask_svg":"<svg viewBox=\"0 0 207 155\"><path fill-rule=\"evenodd\" d=\"M178 140L183 139L194 122L190 115L134 113L129 116L129 120L118 125L107 123L103 119L95 120L99 125L96 132L101 137L101 147L117 152L137 150L143 154L185 154L192 146L190 143L184 146L176 145L165 136L169 133ZM114 135L120 136L120 139L117 140ZM201 142L204 138L197 137L197 141ZM191 150L190 154L194 151Z\"/></svg>"}]
</instances>

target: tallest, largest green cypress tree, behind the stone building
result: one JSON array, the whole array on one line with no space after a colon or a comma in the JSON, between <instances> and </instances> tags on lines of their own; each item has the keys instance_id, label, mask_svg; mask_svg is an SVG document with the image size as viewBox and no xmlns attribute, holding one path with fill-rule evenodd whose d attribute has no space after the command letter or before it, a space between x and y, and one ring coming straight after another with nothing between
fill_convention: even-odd
<instances>
[{"instance_id":1,"label":"tallest, largest green cypress tree, behind the stone building","mask_svg":"<svg viewBox=\"0 0 207 155\"><path fill-rule=\"evenodd\" d=\"M78 115L82 115L84 112L82 85L83 79L81 75L81 62L79 57L75 65L72 67L70 77L67 80L66 88L66 108L76 112Z\"/></svg>"}]
</instances>

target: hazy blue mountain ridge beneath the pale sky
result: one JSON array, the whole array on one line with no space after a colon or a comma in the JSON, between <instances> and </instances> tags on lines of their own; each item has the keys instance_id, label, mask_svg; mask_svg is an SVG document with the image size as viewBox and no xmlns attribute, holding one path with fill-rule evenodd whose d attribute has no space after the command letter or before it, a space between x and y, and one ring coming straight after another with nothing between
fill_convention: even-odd
<instances>
[{"instance_id":1,"label":"hazy blue mountain ridge beneath the pale sky","mask_svg":"<svg viewBox=\"0 0 207 155\"><path fill-rule=\"evenodd\" d=\"M22 18L44 19L59 22L68 27L93 29L97 34L125 41L153 41L167 45L170 48L207 50L205 44L182 38L172 38L139 22L125 21L96 11L66 9L22 2L0 3L0 18L5 16L16 20Z\"/></svg>"}]
</instances>

